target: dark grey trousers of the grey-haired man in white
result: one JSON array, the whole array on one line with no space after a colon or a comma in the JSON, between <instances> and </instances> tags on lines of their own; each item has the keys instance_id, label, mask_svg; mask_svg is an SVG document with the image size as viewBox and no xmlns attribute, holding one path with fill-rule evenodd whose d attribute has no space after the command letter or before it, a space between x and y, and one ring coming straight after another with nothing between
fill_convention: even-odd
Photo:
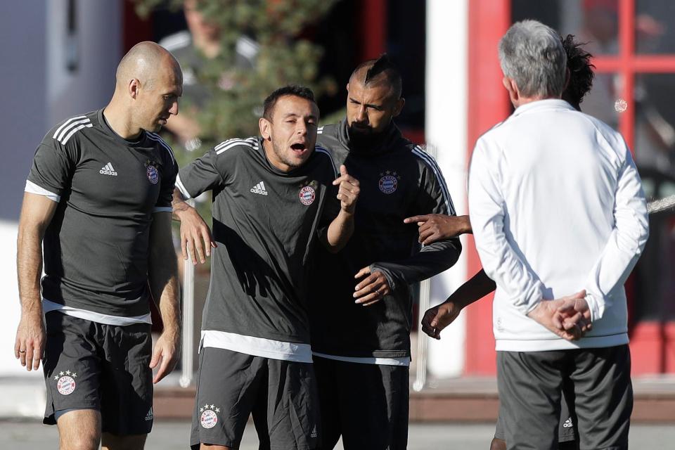
<instances>
[{"instance_id":1,"label":"dark grey trousers of the grey-haired man in white","mask_svg":"<svg viewBox=\"0 0 675 450\"><path fill-rule=\"evenodd\" d=\"M628 448L633 411L628 345L497 352L499 416L508 449L557 448L561 390L581 449ZM570 387L565 387L568 383Z\"/></svg>"}]
</instances>

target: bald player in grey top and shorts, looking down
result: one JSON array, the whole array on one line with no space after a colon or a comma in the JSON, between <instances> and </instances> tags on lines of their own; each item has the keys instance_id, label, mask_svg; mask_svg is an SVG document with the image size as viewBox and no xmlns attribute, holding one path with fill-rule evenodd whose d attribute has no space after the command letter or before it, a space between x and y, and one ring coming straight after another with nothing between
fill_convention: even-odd
<instances>
[{"instance_id":1,"label":"bald player in grey top and shorts, looking down","mask_svg":"<svg viewBox=\"0 0 675 450\"><path fill-rule=\"evenodd\" d=\"M141 42L117 67L110 103L56 125L35 152L19 223L15 354L29 371L44 360L44 423L58 425L61 449L142 449L153 382L176 364L178 167L155 133L178 114L181 93L176 60ZM164 322L152 360L151 298Z\"/></svg>"}]
</instances>

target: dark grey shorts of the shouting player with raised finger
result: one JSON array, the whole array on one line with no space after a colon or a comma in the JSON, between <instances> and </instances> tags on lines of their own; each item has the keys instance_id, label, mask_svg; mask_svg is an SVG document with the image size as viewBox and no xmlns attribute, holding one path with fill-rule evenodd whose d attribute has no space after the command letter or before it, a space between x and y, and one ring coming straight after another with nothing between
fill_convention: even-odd
<instances>
[{"instance_id":1,"label":"dark grey shorts of the shouting player with raised finger","mask_svg":"<svg viewBox=\"0 0 675 450\"><path fill-rule=\"evenodd\" d=\"M319 407L311 363L204 347L190 445L239 448L249 416L260 449L319 448Z\"/></svg>"}]
</instances>

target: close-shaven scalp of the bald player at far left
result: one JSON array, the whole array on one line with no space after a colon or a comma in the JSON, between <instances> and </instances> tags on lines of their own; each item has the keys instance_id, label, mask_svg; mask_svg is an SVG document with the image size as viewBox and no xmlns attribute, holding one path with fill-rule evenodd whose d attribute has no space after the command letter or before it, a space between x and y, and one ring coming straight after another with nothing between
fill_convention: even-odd
<instances>
[{"instance_id":1,"label":"close-shaven scalp of the bald player at far left","mask_svg":"<svg viewBox=\"0 0 675 450\"><path fill-rule=\"evenodd\" d=\"M169 51L154 42L139 42L131 47L120 65L117 65L117 88L127 89L132 79L138 79L141 84L151 88L158 76L166 71L173 72L182 84L181 66Z\"/></svg>"}]
</instances>

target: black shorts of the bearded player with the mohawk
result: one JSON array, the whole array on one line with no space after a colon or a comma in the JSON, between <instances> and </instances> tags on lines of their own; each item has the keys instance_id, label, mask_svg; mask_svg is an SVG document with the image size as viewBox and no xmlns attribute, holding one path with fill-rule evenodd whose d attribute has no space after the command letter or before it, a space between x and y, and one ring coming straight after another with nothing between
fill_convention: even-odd
<instances>
[{"instance_id":1,"label":"black shorts of the bearded player with the mohawk","mask_svg":"<svg viewBox=\"0 0 675 450\"><path fill-rule=\"evenodd\" d=\"M323 450L340 435L345 449L405 449L408 444L409 368L314 356Z\"/></svg>"}]
</instances>

